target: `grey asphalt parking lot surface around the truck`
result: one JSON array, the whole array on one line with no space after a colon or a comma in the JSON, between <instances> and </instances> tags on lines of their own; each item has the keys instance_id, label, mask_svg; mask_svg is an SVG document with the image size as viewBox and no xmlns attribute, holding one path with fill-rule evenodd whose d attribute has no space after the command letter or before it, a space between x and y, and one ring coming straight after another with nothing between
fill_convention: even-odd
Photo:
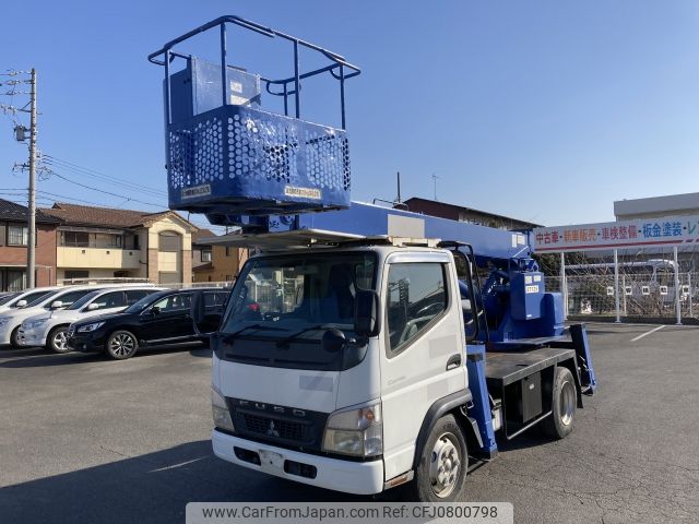
<instances>
[{"instance_id":1,"label":"grey asphalt parking lot surface around the truck","mask_svg":"<svg viewBox=\"0 0 699 524\"><path fill-rule=\"evenodd\" d=\"M699 519L699 329L589 325L600 383L557 442L472 461L464 500L517 523ZM643 336L641 336L643 335ZM126 361L0 350L0 522L183 522L189 501L359 501L224 463L209 441L211 353Z\"/></svg>"}]
</instances>

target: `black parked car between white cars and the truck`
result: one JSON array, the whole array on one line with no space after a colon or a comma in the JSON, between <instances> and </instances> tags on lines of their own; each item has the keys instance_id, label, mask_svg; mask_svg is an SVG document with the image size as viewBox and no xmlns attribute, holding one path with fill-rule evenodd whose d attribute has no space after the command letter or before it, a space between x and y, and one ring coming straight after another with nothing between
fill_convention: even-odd
<instances>
[{"instance_id":1,"label":"black parked car between white cars and the truck","mask_svg":"<svg viewBox=\"0 0 699 524\"><path fill-rule=\"evenodd\" d=\"M104 352L122 360L145 346L205 340L216 331L229 290L221 288L168 289L154 293L121 313L93 317L70 325L68 344L78 352ZM201 307L199 321L192 305Z\"/></svg>"}]
</instances>

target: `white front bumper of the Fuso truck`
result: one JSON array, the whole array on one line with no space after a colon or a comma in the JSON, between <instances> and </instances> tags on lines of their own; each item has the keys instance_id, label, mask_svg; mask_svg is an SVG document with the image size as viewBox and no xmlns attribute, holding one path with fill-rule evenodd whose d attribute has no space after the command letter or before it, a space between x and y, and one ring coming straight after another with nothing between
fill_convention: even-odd
<instances>
[{"instance_id":1,"label":"white front bumper of the Fuso truck","mask_svg":"<svg viewBox=\"0 0 699 524\"><path fill-rule=\"evenodd\" d=\"M224 461L232 462L249 469L269 473L270 475L275 475L288 480L296 480L297 483L309 484L319 488L334 489L335 491L342 491L345 493L375 495L383 491L382 460L354 462L343 461L341 458L328 458L325 456L299 453L297 451L285 450L274 445L239 439L215 429L212 431L211 440L214 454L218 458L223 458ZM258 455L260 452L275 454L277 465L258 465L248 461L242 461L236 456L234 448L238 448L245 452L257 453ZM297 474L286 473L286 466L291 463L315 467L316 477L309 478ZM288 467L288 469L293 471L292 467Z\"/></svg>"}]
</instances>

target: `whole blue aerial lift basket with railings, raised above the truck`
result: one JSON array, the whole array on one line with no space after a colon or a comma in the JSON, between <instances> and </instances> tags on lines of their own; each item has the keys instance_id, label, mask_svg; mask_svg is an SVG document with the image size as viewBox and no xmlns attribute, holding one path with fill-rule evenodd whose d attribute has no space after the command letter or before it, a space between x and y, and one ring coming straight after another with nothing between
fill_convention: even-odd
<instances>
[{"instance_id":1,"label":"whole blue aerial lift basket with railings, raised above the truck","mask_svg":"<svg viewBox=\"0 0 699 524\"><path fill-rule=\"evenodd\" d=\"M230 66L227 24L291 41L294 75L273 80ZM221 63L173 49L214 27L221 31ZM301 72L300 49L320 53L329 63ZM175 59L185 60L182 70L171 71ZM345 81L359 74L358 68L332 51L238 16L222 16L192 29L149 60L165 69L170 209L205 213L214 224L239 225L258 216L350 206ZM340 129L300 118L301 80L320 74L339 83ZM261 85L283 98L283 115L262 109Z\"/></svg>"}]
</instances>

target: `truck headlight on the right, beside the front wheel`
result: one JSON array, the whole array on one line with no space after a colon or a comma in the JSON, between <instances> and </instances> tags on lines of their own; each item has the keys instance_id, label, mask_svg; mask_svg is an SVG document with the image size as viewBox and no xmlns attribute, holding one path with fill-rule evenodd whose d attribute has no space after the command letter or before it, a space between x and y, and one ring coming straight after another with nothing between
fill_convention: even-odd
<instances>
[{"instance_id":1,"label":"truck headlight on the right, beside the front wheel","mask_svg":"<svg viewBox=\"0 0 699 524\"><path fill-rule=\"evenodd\" d=\"M382 454L381 403L331 414L323 434L323 451L354 456Z\"/></svg>"}]
</instances>

